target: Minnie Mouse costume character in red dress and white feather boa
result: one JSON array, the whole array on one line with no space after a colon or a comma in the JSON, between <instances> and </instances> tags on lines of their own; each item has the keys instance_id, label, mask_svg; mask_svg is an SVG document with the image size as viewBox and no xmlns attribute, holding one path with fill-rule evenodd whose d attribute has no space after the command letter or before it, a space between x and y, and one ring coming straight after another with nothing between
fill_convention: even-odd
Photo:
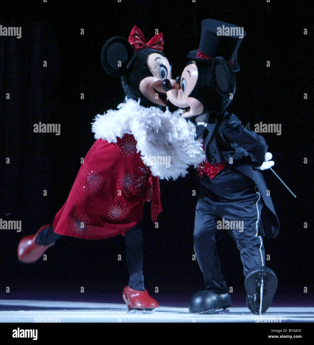
<instances>
[{"instance_id":1,"label":"Minnie Mouse costume character in red dress and white feather boa","mask_svg":"<svg viewBox=\"0 0 314 345\"><path fill-rule=\"evenodd\" d=\"M136 26L129 40L113 37L104 44L102 65L111 76L121 77L125 101L117 110L96 116L92 131L97 140L67 201L52 224L22 238L18 246L19 259L32 263L64 235L85 239L124 235L130 279L123 299L129 309L159 306L144 287L143 205L151 200L151 217L156 222L162 210L159 177L184 176L189 164L196 166L204 158L192 123L155 107L165 106L162 81L171 79L163 46L162 33L146 43ZM150 164L149 155L170 156L171 164Z\"/></svg>"}]
</instances>

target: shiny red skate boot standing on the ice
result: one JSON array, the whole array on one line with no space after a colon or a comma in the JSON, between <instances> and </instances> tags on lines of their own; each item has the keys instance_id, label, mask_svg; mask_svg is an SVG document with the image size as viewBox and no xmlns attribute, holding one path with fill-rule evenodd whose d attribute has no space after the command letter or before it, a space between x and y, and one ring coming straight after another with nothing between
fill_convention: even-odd
<instances>
[{"instance_id":1,"label":"shiny red skate boot standing on the ice","mask_svg":"<svg viewBox=\"0 0 314 345\"><path fill-rule=\"evenodd\" d=\"M129 310L153 310L159 307L159 303L146 290L139 291L125 286L122 297Z\"/></svg>"}]
</instances>

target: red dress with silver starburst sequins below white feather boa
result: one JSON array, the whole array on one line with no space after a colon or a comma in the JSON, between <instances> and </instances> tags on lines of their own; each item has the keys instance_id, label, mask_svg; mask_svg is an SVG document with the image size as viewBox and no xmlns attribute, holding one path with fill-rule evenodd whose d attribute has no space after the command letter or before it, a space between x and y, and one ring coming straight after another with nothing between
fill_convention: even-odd
<instances>
[{"instance_id":1,"label":"red dress with silver starburst sequins below white feather boa","mask_svg":"<svg viewBox=\"0 0 314 345\"><path fill-rule=\"evenodd\" d=\"M151 200L152 221L161 212L159 178L136 153L136 140L125 134L117 143L98 139L88 151L63 207L53 220L54 232L103 239L124 232L143 217Z\"/></svg>"}]
</instances>

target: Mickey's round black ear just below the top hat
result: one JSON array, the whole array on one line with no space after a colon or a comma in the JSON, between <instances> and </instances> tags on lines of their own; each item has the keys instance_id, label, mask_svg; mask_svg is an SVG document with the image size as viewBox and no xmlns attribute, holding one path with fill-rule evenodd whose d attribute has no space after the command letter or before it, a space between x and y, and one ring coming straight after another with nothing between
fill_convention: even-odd
<instances>
[{"instance_id":1,"label":"Mickey's round black ear just below the top hat","mask_svg":"<svg viewBox=\"0 0 314 345\"><path fill-rule=\"evenodd\" d=\"M218 56L213 59L211 69L215 77L217 91L223 97L229 96L229 93L233 92L234 75L227 61Z\"/></svg>"}]
</instances>

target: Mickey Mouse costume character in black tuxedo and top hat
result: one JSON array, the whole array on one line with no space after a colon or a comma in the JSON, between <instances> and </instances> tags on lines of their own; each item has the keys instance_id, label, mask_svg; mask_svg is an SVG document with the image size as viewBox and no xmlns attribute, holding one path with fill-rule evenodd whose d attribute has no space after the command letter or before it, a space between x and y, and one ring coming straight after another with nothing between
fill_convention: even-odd
<instances>
[{"instance_id":1,"label":"Mickey Mouse costume character in black tuxedo and top hat","mask_svg":"<svg viewBox=\"0 0 314 345\"><path fill-rule=\"evenodd\" d=\"M225 28L232 36L219 36ZM246 129L236 115L227 112L240 70L237 50L241 28L214 19L202 21L199 49L176 78L179 85L163 81L168 99L184 108L182 117L192 118L196 138L203 137L206 159L197 167L200 198L194 226L194 248L205 280L205 290L190 301L191 313L208 313L231 306L231 296L221 273L216 249L217 220L237 243L245 276L246 302L252 313L261 314L272 302L277 278L265 267L262 236L275 238L279 230L271 197L259 170L274 165L262 136ZM228 31L225 31L228 32ZM267 153L266 153L267 152ZM265 160L265 161L264 161ZM257 170L256 170L257 169Z\"/></svg>"}]
</instances>

